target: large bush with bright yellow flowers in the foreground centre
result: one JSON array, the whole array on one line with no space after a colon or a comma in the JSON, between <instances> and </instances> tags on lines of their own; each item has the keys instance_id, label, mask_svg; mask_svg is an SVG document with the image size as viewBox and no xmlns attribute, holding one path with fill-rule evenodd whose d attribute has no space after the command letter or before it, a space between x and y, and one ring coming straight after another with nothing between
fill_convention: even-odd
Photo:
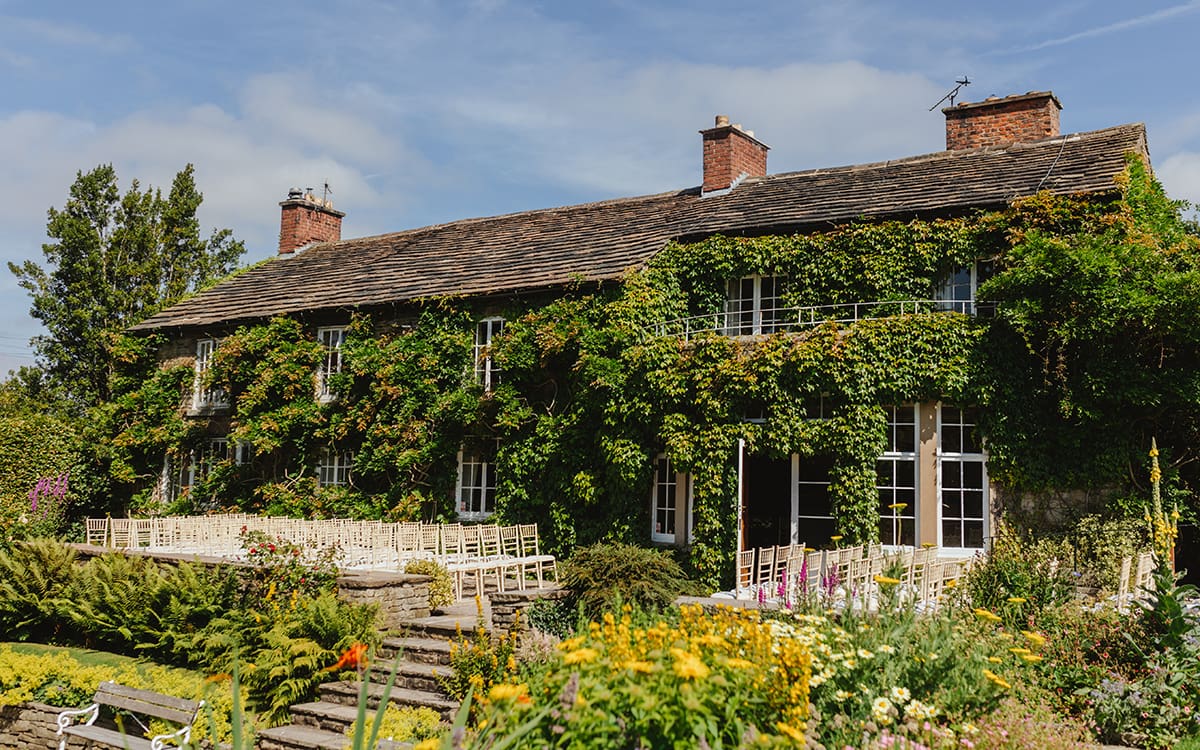
<instances>
[{"instance_id":1,"label":"large bush with bright yellow flowers in the foreground centre","mask_svg":"<svg viewBox=\"0 0 1200 750\"><path fill-rule=\"evenodd\" d=\"M811 667L810 642L756 612L684 607L678 624L644 629L607 613L552 668L492 686L480 724L516 748L737 748L758 734L791 746L805 739Z\"/></svg>"}]
</instances>

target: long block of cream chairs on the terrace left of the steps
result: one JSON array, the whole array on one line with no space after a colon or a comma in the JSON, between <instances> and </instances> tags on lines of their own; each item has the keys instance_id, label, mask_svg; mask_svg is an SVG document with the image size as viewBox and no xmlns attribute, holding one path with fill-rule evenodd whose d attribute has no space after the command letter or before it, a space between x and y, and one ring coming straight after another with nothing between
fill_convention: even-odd
<instances>
[{"instance_id":1,"label":"long block of cream chairs on the terrace left of the steps","mask_svg":"<svg viewBox=\"0 0 1200 750\"><path fill-rule=\"evenodd\" d=\"M86 520L92 545L223 558L242 554L241 534L247 530L302 547L336 546L343 569L402 570L410 560L432 559L454 575L458 599L467 581L475 583L475 592L490 582L503 592L524 589L530 582L540 588L547 577L557 580L554 556L541 552L535 523L310 521L247 514Z\"/></svg>"}]
</instances>

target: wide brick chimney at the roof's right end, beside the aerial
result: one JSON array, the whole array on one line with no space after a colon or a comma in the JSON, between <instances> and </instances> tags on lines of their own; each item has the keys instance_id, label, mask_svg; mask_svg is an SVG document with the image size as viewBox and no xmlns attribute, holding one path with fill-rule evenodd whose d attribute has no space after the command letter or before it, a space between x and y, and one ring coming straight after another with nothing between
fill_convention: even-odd
<instances>
[{"instance_id":1,"label":"wide brick chimney at the roof's right end, beside the aerial","mask_svg":"<svg viewBox=\"0 0 1200 750\"><path fill-rule=\"evenodd\" d=\"M1062 102L1052 91L1030 91L982 102L964 102L942 110L946 150L976 149L1004 143L1028 143L1058 134Z\"/></svg>"}]
</instances>

